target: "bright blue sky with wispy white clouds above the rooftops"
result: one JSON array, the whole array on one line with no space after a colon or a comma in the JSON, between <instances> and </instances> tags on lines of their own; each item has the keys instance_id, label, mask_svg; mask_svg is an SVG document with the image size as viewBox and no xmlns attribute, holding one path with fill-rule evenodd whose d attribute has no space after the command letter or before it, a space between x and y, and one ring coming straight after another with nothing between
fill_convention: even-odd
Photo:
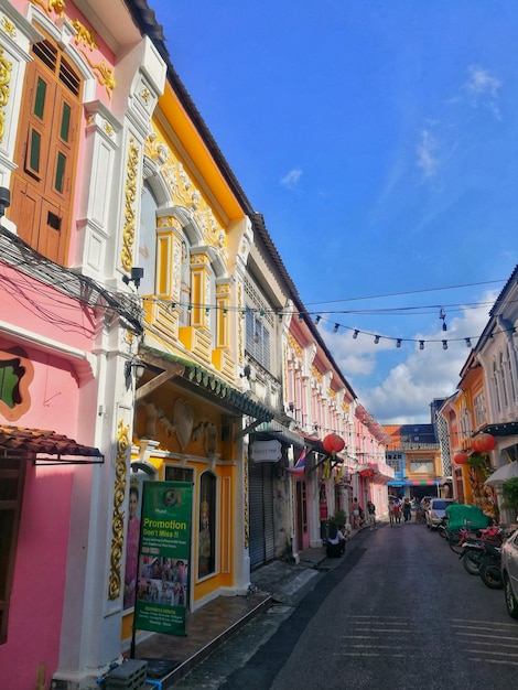
<instances>
[{"instance_id":1,"label":"bright blue sky with wispy white clouds above the rooftops","mask_svg":"<svg viewBox=\"0 0 518 690\"><path fill-rule=\"evenodd\" d=\"M360 402L430 421L518 262L516 3L149 4Z\"/></svg>"}]
</instances>

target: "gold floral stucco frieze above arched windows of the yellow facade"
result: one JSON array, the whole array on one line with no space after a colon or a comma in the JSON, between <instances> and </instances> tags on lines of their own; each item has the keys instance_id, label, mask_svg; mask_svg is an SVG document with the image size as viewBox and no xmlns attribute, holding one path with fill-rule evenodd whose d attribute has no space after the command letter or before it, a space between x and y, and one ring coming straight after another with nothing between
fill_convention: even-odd
<instances>
[{"instance_id":1,"label":"gold floral stucco frieze above arched windows of the yellow facade","mask_svg":"<svg viewBox=\"0 0 518 690\"><path fill-rule=\"evenodd\" d=\"M204 241L216 247L219 255L226 260L227 237L225 229L183 163L154 131L147 139L145 154L157 163L174 204L184 206L191 212L203 234Z\"/></svg>"}]
</instances>

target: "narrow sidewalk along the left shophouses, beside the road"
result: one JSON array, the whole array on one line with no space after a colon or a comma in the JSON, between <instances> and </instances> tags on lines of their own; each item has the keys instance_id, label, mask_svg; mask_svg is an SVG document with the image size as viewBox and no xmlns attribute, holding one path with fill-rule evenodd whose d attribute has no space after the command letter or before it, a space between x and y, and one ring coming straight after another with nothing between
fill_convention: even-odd
<instances>
[{"instance_id":1,"label":"narrow sidewalk along the left shophouses, beside the road","mask_svg":"<svg viewBox=\"0 0 518 690\"><path fill-rule=\"evenodd\" d=\"M251 573L249 595L218 596L198 611L187 613L186 637L154 634L137 645L136 658L148 660L148 679L155 679L155 687L166 690L253 616L272 604L295 606L315 584L314 578L320 572L341 562L341 559L327 559L325 547L320 547L302 551L299 564L267 563Z\"/></svg>"}]
</instances>

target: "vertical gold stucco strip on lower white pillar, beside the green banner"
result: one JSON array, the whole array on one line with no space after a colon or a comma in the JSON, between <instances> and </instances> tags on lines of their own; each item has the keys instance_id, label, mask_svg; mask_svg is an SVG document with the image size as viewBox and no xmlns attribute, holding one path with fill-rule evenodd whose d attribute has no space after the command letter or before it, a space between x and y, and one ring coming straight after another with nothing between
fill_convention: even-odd
<instances>
[{"instance_id":1,"label":"vertical gold stucco strip on lower white pillar, beside the green banner","mask_svg":"<svg viewBox=\"0 0 518 690\"><path fill-rule=\"evenodd\" d=\"M120 594L120 563L125 543L125 511L121 506L126 496L126 467L130 446L129 427L119 421L117 433L117 455L115 461L114 513L111 517L110 574L108 579L108 599Z\"/></svg>"}]
</instances>

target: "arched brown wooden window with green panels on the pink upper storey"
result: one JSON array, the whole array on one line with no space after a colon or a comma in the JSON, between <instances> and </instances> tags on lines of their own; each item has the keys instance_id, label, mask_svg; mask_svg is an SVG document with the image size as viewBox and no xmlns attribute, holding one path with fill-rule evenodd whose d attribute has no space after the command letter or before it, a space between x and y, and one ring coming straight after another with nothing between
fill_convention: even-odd
<instances>
[{"instance_id":1,"label":"arched brown wooden window with green panels on the pink upper storey","mask_svg":"<svg viewBox=\"0 0 518 690\"><path fill-rule=\"evenodd\" d=\"M19 236L64 266L71 237L83 82L51 39L28 65L9 216Z\"/></svg>"}]
</instances>

